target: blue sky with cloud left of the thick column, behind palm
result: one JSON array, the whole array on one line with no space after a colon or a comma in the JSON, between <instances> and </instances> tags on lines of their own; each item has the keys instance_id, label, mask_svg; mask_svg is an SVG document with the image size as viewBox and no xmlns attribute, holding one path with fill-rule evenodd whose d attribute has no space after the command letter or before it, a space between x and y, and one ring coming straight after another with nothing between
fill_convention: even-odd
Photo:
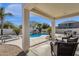
<instances>
[{"instance_id":1,"label":"blue sky with cloud left of the thick column, behind palm","mask_svg":"<svg viewBox=\"0 0 79 59\"><path fill-rule=\"evenodd\" d=\"M12 13L13 16L5 17L5 21L10 21L15 25L22 24L22 5L21 4L0 4L0 7L5 8L5 13Z\"/></svg>"}]
</instances>

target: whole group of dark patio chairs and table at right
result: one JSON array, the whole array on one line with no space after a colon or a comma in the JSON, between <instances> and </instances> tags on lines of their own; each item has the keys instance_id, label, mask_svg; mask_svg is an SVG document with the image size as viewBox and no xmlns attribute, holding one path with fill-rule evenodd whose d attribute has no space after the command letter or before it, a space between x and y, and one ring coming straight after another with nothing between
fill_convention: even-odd
<instances>
[{"instance_id":1,"label":"whole group of dark patio chairs and table at right","mask_svg":"<svg viewBox=\"0 0 79 59\"><path fill-rule=\"evenodd\" d=\"M62 40L56 39L55 42L51 41L51 55L52 56L74 56L77 46L79 44L76 32L64 32L65 37Z\"/></svg>"}]
</instances>

